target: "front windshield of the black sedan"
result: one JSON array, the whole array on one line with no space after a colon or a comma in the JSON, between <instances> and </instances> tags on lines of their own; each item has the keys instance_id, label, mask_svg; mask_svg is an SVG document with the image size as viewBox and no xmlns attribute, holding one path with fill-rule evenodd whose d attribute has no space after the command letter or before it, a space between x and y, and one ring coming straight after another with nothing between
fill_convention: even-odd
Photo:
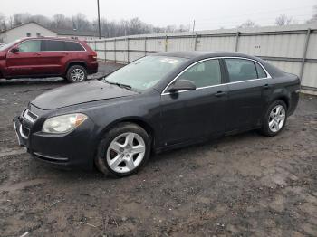
<instances>
[{"instance_id":1,"label":"front windshield of the black sedan","mask_svg":"<svg viewBox=\"0 0 317 237\"><path fill-rule=\"evenodd\" d=\"M146 56L114 71L105 78L105 81L127 85L132 90L147 90L186 60L176 57Z\"/></svg>"}]
</instances>

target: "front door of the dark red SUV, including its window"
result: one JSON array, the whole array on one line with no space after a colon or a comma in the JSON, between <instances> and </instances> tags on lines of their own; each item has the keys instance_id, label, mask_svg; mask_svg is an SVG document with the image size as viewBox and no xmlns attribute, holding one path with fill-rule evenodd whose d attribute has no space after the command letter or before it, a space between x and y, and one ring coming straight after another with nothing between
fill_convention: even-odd
<instances>
[{"instance_id":1,"label":"front door of the dark red SUV, including its window","mask_svg":"<svg viewBox=\"0 0 317 237\"><path fill-rule=\"evenodd\" d=\"M18 52L7 52L7 77L41 75L43 73L42 40L26 40L17 47Z\"/></svg>"}]
</instances>

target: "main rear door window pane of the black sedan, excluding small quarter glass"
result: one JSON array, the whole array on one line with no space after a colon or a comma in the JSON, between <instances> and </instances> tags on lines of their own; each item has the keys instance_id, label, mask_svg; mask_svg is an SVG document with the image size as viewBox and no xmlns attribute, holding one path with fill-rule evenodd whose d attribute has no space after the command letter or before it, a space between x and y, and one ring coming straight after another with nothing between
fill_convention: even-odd
<instances>
[{"instance_id":1,"label":"main rear door window pane of the black sedan, excluding small quarter glass","mask_svg":"<svg viewBox=\"0 0 317 237\"><path fill-rule=\"evenodd\" d=\"M255 63L244 59L225 59L230 82L256 79Z\"/></svg>"}]
</instances>

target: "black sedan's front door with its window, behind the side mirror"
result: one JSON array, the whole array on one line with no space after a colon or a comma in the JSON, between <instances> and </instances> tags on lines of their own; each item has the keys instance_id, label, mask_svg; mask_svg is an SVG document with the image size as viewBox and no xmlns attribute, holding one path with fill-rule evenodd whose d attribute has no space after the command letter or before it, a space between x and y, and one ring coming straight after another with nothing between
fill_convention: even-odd
<instances>
[{"instance_id":1,"label":"black sedan's front door with its window, behind the side mirror","mask_svg":"<svg viewBox=\"0 0 317 237\"><path fill-rule=\"evenodd\" d=\"M167 89L162 93L161 126L165 146L225 131L227 86L222 84L221 71L217 59L194 63L177 80L193 81L196 90L169 93Z\"/></svg>"}]
</instances>

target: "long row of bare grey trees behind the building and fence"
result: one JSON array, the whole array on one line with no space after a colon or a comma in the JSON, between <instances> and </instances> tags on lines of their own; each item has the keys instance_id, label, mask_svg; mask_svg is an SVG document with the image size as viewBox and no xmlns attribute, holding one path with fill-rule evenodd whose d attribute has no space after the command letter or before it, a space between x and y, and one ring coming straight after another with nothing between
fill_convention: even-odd
<instances>
[{"instance_id":1,"label":"long row of bare grey trees behind the building and fence","mask_svg":"<svg viewBox=\"0 0 317 237\"><path fill-rule=\"evenodd\" d=\"M72 17L64 14L55 14L47 17L42 14L20 13L6 17L0 13L0 32L15 26L35 22L49 29L68 29L77 31L98 32L98 21L89 21L84 14L76 14ZM142 22L138 17L131 20L109 21L101 18L101 35L104 37L117 37L142 33L173 33L187 32L189 25L168 25L158 27Z\"/></svg>"}]
</instances>

